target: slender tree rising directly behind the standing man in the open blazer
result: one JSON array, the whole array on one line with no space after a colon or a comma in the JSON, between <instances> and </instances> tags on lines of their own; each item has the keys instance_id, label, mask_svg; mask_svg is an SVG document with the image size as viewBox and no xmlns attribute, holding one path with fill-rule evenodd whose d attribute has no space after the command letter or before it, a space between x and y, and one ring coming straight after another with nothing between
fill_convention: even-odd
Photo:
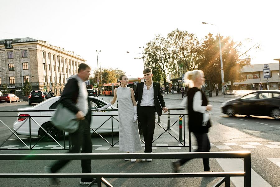
<instances>
[{"instance_id":1,"label":"slender tree rising directly behind the standing man in the open blazer","mask_svg":"<svg viewBox=\"0 0 280 187\"><path fill-rule=\"evenodd\" d=\"M166 38L158 34L154 40L149 41L145 48L145 67L152 69L154 74L154 79L159 79L160 77L164 80L164 85L166 85L166 73L171 70L169 64L171 61L171 53L169 51L169 43Z\"/></svg>"}]
</instances>

